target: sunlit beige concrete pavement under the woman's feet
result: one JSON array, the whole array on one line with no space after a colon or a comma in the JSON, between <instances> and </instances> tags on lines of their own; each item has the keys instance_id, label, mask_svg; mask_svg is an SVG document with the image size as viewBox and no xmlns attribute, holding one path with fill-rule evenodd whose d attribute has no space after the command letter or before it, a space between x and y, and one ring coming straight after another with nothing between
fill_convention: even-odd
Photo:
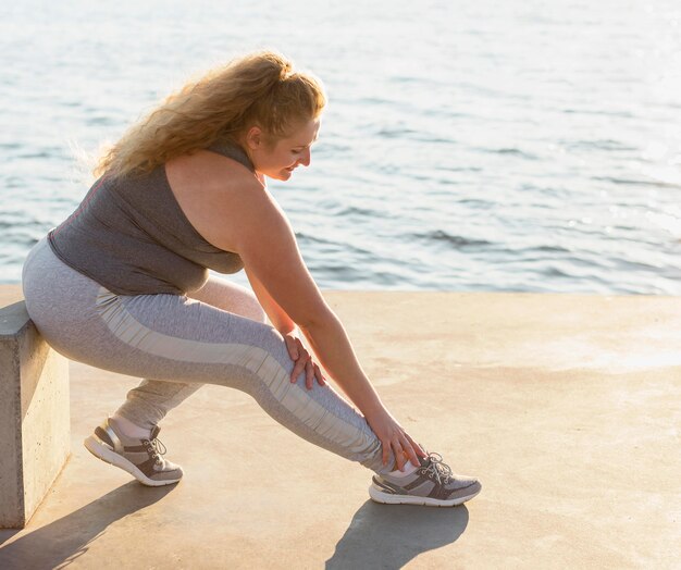
<instances>
[{"instance_id":1,"label":"sunlit beige concrete pavement under the woman's feet","mask_svg":"<svg viewBox=\"0 0 681 570\"><path fill-rule=\"evenodd\" d=\"M681 298L325 295L475 499L375 505L369 471L210 385L162 423L184 480L145 487L82 445L138 380L72 363L72 456L0 568L678 568Z\"/></svg>"}]
</instances>

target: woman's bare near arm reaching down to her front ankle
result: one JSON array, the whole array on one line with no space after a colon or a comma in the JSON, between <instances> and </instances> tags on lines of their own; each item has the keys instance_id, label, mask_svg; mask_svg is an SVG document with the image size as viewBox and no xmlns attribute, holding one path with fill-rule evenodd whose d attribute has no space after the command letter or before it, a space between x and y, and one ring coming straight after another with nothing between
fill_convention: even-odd
<instances>
[{"instance_id":1,"label":"woman's bare near arm reaching down to her front ankle","mask_svg":"<svg viewBox=\"0 0 681 570\"><path fill-rule=\"evenodd\" d=\"M326 372L364 414L383 444L384 463L392 447L399 469L406 462L403 451L419 464L417 456L424 451L391 416L367 377L345 329L305 265L283 211L264 189L244 193L239 202L238 215L230 220L228 241L261 294L264 289L298 324Z\"/></svg>"}]
</instances>

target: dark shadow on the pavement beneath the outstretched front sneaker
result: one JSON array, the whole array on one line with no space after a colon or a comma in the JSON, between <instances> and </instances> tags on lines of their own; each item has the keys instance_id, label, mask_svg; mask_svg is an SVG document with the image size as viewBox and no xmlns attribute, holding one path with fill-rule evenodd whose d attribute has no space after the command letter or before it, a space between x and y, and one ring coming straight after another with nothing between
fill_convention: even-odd
<instances>
[{"instance_id":1,"label":"dark shadow on the pavement beneath the outstretched front sneaker","mask_svg":"<svg viewBox=\"0 0 681 570\"><path fill-rule=\"evenodd\" d=\"M468 509L364 503L352 517L326 570L401 568L421 553L454 543L466 530Z\"/></svg>"}]
</instances>

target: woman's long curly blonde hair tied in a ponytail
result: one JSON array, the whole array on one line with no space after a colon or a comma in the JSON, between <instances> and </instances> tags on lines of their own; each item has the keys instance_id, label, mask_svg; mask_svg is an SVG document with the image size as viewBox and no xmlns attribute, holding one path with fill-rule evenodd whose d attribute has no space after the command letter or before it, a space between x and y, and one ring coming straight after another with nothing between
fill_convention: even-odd
<instances>
[{"instance_id":1,"label":"woman's long curly blonde hair tied in a ponytail","mask_svg":"<svg viewBox=\"0 0 681 570\"><path fill-rule=\"evenodd\" d=\"M215 142L238 142L253 125L276 140L297 123L317 119L325 104L317 77L295 71L281 53L250 53L169 96L103 152L94 174L148 173Z\"/></svg>"}]
</instances>

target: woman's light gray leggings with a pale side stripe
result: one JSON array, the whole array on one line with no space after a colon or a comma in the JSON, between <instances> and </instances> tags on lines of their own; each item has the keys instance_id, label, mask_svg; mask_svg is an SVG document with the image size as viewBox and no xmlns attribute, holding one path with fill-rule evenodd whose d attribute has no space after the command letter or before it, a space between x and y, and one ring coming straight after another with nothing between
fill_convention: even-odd
<instances>
[{"instance_id":1,"label":"woman's light gray leggings with a pale side stripe","mask_svg":"<svg viewBox=\"0 0 681 570\"><path fill-rule=\"evenodd\" d=\"M386 473L364 417L331 386L295 384L282 335L247 289L211 277L190 297L115 295L73 270L46 239L23 271L26 308L45 339L69 359L144 377L117 413L151 428L202 384L249 394L274 420L324 449Z\"/></svg>"}]
</instances>

